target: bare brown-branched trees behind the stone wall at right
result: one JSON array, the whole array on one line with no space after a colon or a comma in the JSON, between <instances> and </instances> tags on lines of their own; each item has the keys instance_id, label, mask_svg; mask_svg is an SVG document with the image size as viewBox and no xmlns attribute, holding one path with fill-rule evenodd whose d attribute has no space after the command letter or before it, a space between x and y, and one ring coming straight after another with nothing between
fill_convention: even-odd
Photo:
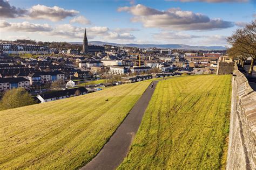
<instances>
[{"instance_id":1,"label":"bare brown-branched trees behind the stone wall at right","mask_svg":"<svg viewBox=\"0 0 256 170\"><path fill-rule=\"evenodd\" d=\"M237 29L227 38L228 44L232 47L228 49L228 55L238 59L238 64L244 68L245 61L250 57L251 66L248 74L252 74L254 61L256 58L256 20L247 24L241 29Z\"/></svg>"}]
</instances>

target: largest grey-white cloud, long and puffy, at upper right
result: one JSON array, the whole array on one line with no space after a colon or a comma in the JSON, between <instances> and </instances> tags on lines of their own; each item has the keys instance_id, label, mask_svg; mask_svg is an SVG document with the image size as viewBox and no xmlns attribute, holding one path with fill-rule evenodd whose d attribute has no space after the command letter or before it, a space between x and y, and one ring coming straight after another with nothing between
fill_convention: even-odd
<instances>
[{"instance_id":1,"label":"largest grey-white cloud, long and puffy, at upper right","mask_svg":"<svg viewBox=\"0 0 256 170\"><path fill-rule=\"evenodd\" d=\"M134 17L132 22L140 22L144 27L156 27L170 30L213 30L232 27L232 22L222 19L211 19L201 13L182 11L179 8L172 8L166 11L148 8L142 4L136 6L124 6L117 11L130 12Z\"/></svg>"}]
</instances>

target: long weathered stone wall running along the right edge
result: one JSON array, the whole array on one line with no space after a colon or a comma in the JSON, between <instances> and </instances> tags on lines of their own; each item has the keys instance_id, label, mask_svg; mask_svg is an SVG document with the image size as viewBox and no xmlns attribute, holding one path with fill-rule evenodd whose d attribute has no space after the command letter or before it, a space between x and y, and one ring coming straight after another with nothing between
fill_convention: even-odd
<instances>
[{"instance_id":1,"label":"long weathered stone wall running along the right edge","mask_svg":"<svg viewBox=\"0 0 256 170\"><path fill-rule=\"evenodd\" d=\"M255 141L256 92L235 66L226 169L256 169Z\"/></svg>"}]
</instances>

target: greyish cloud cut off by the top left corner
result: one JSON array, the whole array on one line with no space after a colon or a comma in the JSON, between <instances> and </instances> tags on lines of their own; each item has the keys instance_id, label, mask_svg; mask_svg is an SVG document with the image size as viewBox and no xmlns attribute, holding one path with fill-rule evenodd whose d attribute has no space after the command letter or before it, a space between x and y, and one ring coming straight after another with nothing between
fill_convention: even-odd
<instances>
[{"instance_id":1,"label":"greyish cloud cut off by the top left corner","mask_svg":"<svg viewBox=\"0 0 256 170\"><path fill-rule=\"evenodd\" d=\"M24 16L26 12L28 11L25 9L11 6L8 1L0 0L0 17L16 18L16 17Z\"/></svg>"}]
</instances>

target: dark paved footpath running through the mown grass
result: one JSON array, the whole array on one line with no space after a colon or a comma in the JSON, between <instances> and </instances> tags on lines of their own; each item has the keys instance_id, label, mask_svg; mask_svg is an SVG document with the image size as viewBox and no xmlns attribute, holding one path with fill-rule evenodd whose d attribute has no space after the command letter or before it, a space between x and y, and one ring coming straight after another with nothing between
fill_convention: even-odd
<instances>
[{"instance_id":1,"label":"dark paved footpath running through the mown grass","mask_svg":"<svg viewBox=\"0 0 256 170\"><path fill-rule=\"evenodd\" d=\"M156 88L157 81L154 81ZM126 157L132 140L142 122L144 112L151 100L154 88L150 86L139 98L123 123L119 125L102 150L82 169L116 169Z\"/></svg>"}]
</instances>

